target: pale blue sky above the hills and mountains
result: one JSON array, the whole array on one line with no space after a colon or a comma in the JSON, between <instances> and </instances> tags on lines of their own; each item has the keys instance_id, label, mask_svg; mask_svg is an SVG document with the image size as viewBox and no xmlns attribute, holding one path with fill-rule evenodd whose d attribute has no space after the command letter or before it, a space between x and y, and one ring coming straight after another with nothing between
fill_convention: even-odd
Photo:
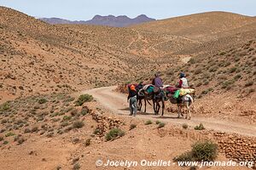
<instances>
[{"instance_id":1,"label":"pale blue sky above the hills and mountains","mask_svg":"<svg viewBox=\"0 0 256 170\"><path fill-rule=\"evenodd\" d=\"M0 0L0 5L36 17L90 20L94 15L147 14L166 19L207 11L256 16L256 0Z\"/></svg>"}]
</instances>

